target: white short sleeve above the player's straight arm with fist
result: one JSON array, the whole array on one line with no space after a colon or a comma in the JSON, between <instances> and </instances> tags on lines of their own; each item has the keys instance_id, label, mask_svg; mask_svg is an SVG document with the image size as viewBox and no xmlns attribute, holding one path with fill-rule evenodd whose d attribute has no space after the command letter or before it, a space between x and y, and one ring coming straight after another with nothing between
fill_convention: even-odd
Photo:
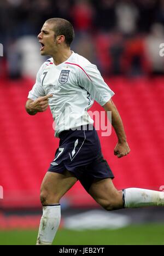
<instances>
[{"instance_id":1,"label":"white short sleeve above the player's straight arm with fist","mask_svg":"<svg viewBox=\"0 0 164 256\"><path fill-rule=\"evenodd\" d=\"M80 67L78 79L79 85L83 86L101 106L106 104L114 95L95 65Z\"/></svg>"}]
</instances>

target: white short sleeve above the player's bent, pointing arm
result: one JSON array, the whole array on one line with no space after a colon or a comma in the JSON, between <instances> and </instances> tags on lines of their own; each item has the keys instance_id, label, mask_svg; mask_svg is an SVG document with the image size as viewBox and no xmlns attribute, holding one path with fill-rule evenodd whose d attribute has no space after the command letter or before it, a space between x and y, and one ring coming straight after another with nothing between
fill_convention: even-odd
<instances>
[{"instance_id":1,"label":"white short sleeve above the player's bent, pointing arm","mask_svg":"<svg viewBox=\"0 0 164 256\"><path fill-rule=\"evenodd\" d=\"M34 84L32 90L28 94L28 98L30 98L33 101L36 100L38 97L45 96L45 91L42 87L40 75L41 75L41 72L39 69L39 71L37 73L36 83Z\"/></svg>"}]
</instances>

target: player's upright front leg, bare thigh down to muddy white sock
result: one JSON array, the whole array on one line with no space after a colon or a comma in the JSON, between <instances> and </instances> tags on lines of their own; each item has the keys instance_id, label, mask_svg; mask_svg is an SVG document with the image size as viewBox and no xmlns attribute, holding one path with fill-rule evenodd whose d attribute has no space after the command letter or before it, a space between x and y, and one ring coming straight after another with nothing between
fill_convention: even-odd
<instances>
[{"instance_id":1,"label":"player's upright front leg, bare thigh down to muddy white sock","mask_svg":"<svg viewBox=\"0 0 164 256\"><path fill-rule=\"evenodd\" d=\"M60 225L60 199L76 182L77 178L68 171L62 174L56 172L45 174L40 191L43 216L40 220L37 245L51 245Z\"/></svg>"}]
</instances>

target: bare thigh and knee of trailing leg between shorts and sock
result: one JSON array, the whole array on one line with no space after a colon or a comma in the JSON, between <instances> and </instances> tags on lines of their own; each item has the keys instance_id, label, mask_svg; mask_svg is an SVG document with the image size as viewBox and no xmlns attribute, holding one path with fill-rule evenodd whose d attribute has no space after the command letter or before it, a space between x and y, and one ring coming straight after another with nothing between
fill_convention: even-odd
<instances>
[{"instance_id":1,"label":"bare thigh and knee of trailing leg between shorts and sock","mask_svg":"<svg viewBox=\"0 0 164 256\"><path fill-rule=\"evenodd\" d=\"M104 208L122 206L122 191L118 191L112 179L95 179L89 189L89 194Z\"/></svg>"}]
</instances>

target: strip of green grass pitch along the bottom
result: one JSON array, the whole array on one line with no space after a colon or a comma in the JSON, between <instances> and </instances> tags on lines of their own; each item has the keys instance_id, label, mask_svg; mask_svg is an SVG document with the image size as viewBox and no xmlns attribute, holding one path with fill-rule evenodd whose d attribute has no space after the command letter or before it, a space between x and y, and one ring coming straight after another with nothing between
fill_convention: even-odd
<instances>
[{"instance_id":1,"label":"strip of green grass pitch along the bottom","mask_svg":"<svg viewBox=\"0 0 164 256\"><path fill-rule=\"evenodd\" d=\"M35 245L37 230L0 231L0 245ZM117 230L58 230L53 245L164 245L164 224Z\"/></svg>"}]
</instances>

